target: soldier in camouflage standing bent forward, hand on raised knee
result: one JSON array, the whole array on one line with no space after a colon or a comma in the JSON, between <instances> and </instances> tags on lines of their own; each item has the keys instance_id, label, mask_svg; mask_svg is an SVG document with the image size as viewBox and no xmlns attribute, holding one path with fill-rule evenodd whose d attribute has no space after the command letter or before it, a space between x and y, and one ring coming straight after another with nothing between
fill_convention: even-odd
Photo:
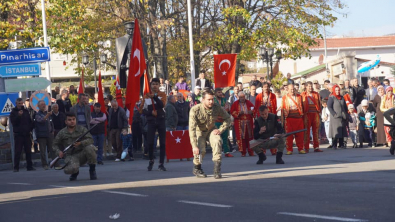
<instances>
[{"instance_id":1,"label":"soldier in camouflage standing bent forward, hand on raised knee","mask_svg":"<svg viewBox=\"0 0 395 222\"><path fill-rule=\"evenodd\" d=\"M214 103L212 91L203 92L202 99L202 103L192 107L189 113L189 137L194 154L193 174L200 178L207 177L201 164L206 154L206 141L208 140L213 149L214 178L220 179L223 144L221 134L230 126L230 116L221 106ZM224 122L217 129L215 122L218 118L222 118Z\"/></svg>"}]
</instances>

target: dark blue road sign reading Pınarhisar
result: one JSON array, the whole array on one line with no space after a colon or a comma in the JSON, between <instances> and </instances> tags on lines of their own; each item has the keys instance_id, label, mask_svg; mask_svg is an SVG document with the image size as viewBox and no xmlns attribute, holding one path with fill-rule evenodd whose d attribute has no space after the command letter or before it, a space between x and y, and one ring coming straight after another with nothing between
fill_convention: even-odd
<instances>
[{"instance_id":1,"label":"dark blue road sign reading P\u0131narhisar","mask_svg":"<svg viewBox=\"0 0 395 222\"><path fill-rule=\"evenodd\" d=\"M49 47L0 51L0 66L51 61Z\"/></svg>"}]
</instances>

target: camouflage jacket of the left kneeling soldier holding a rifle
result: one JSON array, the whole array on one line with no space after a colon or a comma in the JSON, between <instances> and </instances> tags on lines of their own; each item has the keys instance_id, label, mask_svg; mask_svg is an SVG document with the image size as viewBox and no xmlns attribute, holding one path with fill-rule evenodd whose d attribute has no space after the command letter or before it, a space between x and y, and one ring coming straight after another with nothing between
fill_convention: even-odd
<instances>
[{"instance_id":1,"label":"camouflage jacket of the left kneeling soldier holding a rifle","mask_svg":"<svg viewBox=\"0 0 395 222\"><path fill-rule=\"evenodd\" d=\"M55 140L53 141L53 149L56 153L59 151L63 151L68 145L75 142L82 134L88 131L83 126L75 126L74 132L70 133L67 127L63 128L59 131L58 135L56 135ZM81 145L74 149L74 152L80 152L84 149L84 147L93 144L93 138L90 133L88 133L85 138L81 141Z\"/></svg>"}]
</instances>

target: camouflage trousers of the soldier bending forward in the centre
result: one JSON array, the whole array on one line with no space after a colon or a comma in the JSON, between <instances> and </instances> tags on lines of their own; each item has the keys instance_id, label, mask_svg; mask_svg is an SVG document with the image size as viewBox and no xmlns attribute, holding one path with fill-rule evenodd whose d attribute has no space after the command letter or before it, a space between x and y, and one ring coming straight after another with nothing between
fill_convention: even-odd
<instances>
[{"instance_id":1,"label":"camouflage trousers of the soldier bending forward in the centre","mask_svg":"<svg viewBox=\"0 0 395 222\"><path fill-rule=\"evenodd\" d=\"M202 163L204 155L206 154L207 141L210 142L210 146L213 150L213 161L221 162L222 159L222 144L221 135L214 135L213 131L201 132L196 131L198 148L200 150L199 155L193 155L193 164L199 165Z\"/></svg>"}]
</instances>

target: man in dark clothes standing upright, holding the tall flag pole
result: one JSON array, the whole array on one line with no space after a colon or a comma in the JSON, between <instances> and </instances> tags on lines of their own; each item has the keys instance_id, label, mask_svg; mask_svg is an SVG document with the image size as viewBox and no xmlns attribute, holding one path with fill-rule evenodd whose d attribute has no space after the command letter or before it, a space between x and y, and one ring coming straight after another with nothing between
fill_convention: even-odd
<instances>
[{"instance_id":1,"label":"man in dark clothes standing upright, holding the tall flag pole","mask_svg":"<svg viewBox=\"0 0 395 222\"><path fill-rule=\"evenodd\" d=\"M182 82L182 80L183 77L180 77L180 82ZM153 78L151 80L150 86L151 93L147 93L144 95L144 98L140 105L140 113L144 113L144 115L146 116L148 126L147 140L150 160L147 169L148 171L151 171L152 167L154 166L154 141L155 133L156 131L158 131L160 144L160 158L158 169L160 171L166 171L166 168L164 167L166 152L166 114L163 108L166 106L167 98L166 94L159 91L158 78Z\"/></svg>"}]
</instances>

